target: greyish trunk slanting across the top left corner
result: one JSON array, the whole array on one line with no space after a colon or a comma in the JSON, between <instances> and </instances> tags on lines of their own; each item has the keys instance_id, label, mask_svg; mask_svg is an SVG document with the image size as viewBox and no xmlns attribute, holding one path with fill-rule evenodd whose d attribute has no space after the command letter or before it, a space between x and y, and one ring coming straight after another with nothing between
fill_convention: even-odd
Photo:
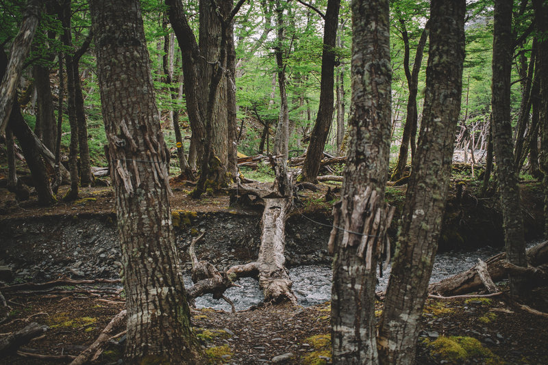
<instances>
[{"instance_id":1,"label":"greyish trunk slanting across the top left corner","mask_svg":"<svg viewBox=\"0 0 548 365\"><path fill-rule=\"evenodd\" d=\"M8 125L12 111L13 100L17 94L19 78L23 71L23 63L29 54L30 45L38 27L42 1L29 0L23 13L23 22L10 50L10 61L0 83L0 135L3 135L5 126Z\"/></svg>"}]
</instances>

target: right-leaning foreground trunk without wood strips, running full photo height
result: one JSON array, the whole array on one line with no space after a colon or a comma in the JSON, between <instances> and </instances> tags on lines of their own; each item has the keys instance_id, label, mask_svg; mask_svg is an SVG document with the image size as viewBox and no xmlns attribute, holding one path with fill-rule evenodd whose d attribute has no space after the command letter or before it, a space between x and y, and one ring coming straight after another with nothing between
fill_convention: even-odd
<instances>
[{"instance_id":1,"label":"right-leaning foreground trunk without wood strips, running full photo height","mask_svg":"<svg viewBox=\"0 0 548 365\"><path fill-rule=\"evenodd\" d=\"M460 113L465 9L464 0L430 3L423 122L379 329L381 364L414 364Z\"/></svg>"}]
</instances>

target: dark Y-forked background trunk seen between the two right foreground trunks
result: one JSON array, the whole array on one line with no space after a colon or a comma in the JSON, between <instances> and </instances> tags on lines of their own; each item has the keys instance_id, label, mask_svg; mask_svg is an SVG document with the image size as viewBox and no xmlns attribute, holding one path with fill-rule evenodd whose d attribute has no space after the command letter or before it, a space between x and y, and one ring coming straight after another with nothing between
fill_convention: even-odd
<instances>
[{"instance_id":1,"label":"dark Y-forked background trunk seen between the two right foreground trunks","mask_svg":"<svg viewBox=\"0 0 548 365\"><path fill-rule=\"evenodd\" d=\"M403 135L401 136L401 145L399 146L399 155L396 168L390 176L390 180L397 181L403 177L403 172L406 171L409 144L411 144L412 150L414 149L414 135L416 135L416 127L419 122L419 114L416 110L416 94L419 84L419 72L421 71L421 65L423 63L423 51L428 39L428 23L426 23L419 44L416 46L415 61L413 64L413 70L409 70L409 37L405 23L401 20L403 27L403 42L405 44L405 55L403 57L403 66L406 69L406 78L409 88L409 97L407 100L407 116L406 125L403 127Z\"/></svg>"}]
</instances>

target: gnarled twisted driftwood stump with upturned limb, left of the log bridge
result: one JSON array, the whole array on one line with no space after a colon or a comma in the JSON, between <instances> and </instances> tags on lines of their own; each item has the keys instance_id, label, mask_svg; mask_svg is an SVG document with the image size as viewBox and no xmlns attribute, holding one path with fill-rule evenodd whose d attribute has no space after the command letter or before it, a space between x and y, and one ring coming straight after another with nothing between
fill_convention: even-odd
<instances>
[{"instance_id":1,"label":"gnarled twisted driftwood stump with upturned limb, left of the log bridge","mask_svg":"<svg viewBox=\"0 0 548 365\"><path fill-rule=\"evenodd\" d=\"M232 307L232 312L236 312L232 300L225 297L225 291L232 286L238 286L230 280L226 272L220 273L210 262L199 261L195 245L199 239L203 237L203 233L190 243L190 259L192 260L192 282L194 285L186 290L186 296L190 303L194 299L201 297L204 294L212 294L214 299L224 299Z\"/></svg>"}]
</instances>

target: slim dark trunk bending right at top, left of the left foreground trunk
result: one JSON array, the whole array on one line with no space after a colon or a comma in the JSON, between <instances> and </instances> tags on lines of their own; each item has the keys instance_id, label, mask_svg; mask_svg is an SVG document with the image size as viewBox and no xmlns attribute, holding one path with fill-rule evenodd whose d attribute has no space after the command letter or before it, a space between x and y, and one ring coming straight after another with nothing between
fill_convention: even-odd
<instances>
[{"instance_id":1,"label":"slim dark trunk bending right at top, left of the left foreground trunk","mask_svg":"<svg viewBox=\"0 0 548 365\"><path fill-rule=\"evenodd\" d=\"M92 38L92 33L84 40L74 53L73 57L73 79L74 79L74 96L75 96L75 114L76 124L78 128L78 148L80 153L80 184L82 186L90 186L93 184L93 174L91 173L90 149L88 146L88 123L86 122L86 111L84 110L84 95L82 94L82 82L80 81L79 62L80 58L88 51ZM72 143L72 139L71 139Z\"/></svg>"}]
</instances>

